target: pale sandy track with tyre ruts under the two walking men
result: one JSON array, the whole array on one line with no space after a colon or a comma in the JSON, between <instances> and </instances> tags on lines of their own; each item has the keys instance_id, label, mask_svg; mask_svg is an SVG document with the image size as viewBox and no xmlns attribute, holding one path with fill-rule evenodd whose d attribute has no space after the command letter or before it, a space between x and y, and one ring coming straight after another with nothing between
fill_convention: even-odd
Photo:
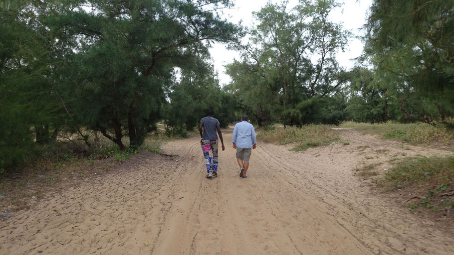
<instances>
[{"instance_id":1,"label":"pale sandy track with tyre ruts under the two walking men","mask_svg":"<svg viewBox=\"0 0 454 255\"><path fill-rule=\"evenodd\" d=\"M247 179L238 177L231 128L212 180L197 138L164 146L179 157L140 152L0 222L0 254L453 255L452 232L352 171L360 163L387 167L392 156L450 152L340 131L348 145L297 153L258 141Z\"/></svg>"}]
</instances>

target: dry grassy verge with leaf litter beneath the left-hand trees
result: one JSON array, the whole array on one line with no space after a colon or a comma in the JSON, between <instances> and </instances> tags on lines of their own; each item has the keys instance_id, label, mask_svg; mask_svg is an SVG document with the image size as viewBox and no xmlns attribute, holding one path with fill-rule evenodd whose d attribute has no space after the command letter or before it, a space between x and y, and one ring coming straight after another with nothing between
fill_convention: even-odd
<instances>
[{"instance_id":1,"label":"dry grassy verge with leaf litter beneath the left-hand trees","mask_svg":"<svg viewBox=\"0 0 454 255\"><path fill-rule=\"evenodd\" d=\"M191 131L189 135L195 135L195 132ZM71 142L62 140L59 141L62 144L43 147L44 151L39 158L14 168L3 169L0 173L2 217L7 218L11 212L30 208L48 192L56 192L68 185L91 181L93 178L102 179L104 173L112 171L115 166L140 151L162 153L163 143L181 138L160 128L148 135L141 147L120 150L115 143L102 136L96 141L95 135L91 137L93 139L90 138L89 142L95 146L89 154L81 153L79 150L84 144L83 140L77 138Z\"/></svg>"}]
</instances>

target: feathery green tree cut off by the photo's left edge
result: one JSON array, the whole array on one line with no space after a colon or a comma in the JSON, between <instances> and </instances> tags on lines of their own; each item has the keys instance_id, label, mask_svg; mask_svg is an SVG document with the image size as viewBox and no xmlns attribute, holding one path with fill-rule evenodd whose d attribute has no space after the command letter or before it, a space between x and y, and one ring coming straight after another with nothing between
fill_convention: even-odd
<instances>
[{"instance_id":1,"label":"feathery green tree cut off by the photo's left edge","mask_svg":"<svg viewBox=\"0 0 454 255\"><path fill-rule=\"evenodd\" d=\"M40 144L55 140L64 123L50 79L52 44L37 4L0 3L0 162L5 166L23 162Z\"/></svg>"}]
</instances>

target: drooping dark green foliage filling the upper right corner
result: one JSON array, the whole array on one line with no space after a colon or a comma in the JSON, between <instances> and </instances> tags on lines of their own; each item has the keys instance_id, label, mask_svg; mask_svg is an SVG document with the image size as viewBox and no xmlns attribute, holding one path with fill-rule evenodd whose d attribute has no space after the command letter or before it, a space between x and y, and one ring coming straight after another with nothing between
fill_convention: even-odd
<instances>
[{"instance_id":1,"label":"drooping dark green foliage filling the upper right corner","mask_svg":"<svg viewBox=\"0 0 454 255\"><path fill-rule=\"evenodd\" d=\"M407 121L454 114L454 0L373 2L366 54Z\"/></svg>"}]
</instances>

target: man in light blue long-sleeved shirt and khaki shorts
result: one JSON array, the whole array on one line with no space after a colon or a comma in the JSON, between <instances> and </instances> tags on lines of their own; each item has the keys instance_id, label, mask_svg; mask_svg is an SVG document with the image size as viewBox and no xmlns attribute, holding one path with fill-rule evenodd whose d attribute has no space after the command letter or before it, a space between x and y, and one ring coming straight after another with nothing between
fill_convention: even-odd
<instances>
[{"instance_id":1,"label":"man in light blue long-sleeved shirt and khaki shorts","mask_svg":"<svg viewBox=\"0 0 454 255\"><path fill-rule=\"evenodd\" d=\"M257 147L254 126L247 121L249 117L243 115L241 122L235 125L231 137L232 147L236 149L236 160L239 165L239 177L247 178L246 172L249 168L249 158L252 149ZM252 148L252 149L251 149Z\"/></svg>"}]
</instances>

